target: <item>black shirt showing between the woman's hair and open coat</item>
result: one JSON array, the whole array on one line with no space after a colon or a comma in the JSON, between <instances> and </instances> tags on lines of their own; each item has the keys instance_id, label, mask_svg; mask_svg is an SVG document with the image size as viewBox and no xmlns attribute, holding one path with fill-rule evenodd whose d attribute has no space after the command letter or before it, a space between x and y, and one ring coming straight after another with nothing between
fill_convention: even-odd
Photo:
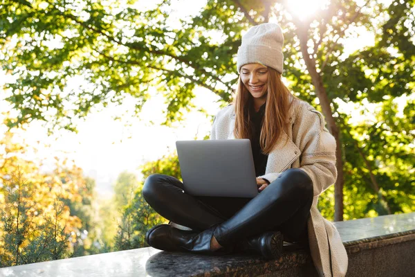
<instances>
[{"instance_id":1,"label":"black shirt showing between the woman's hair and open coat","mask_svg":"<svg viewBox=\"0 0 415 277\"><path fill-rule=\"evenodd\" d=\"M251 148L252 156L254 157L255 174L257 177L265 174L266 162L268 161L268 155L262 152L261 146L259 145L259 136L261 136L261 127L264 120L265 105L266 104L262 105L257 112L252 105L251 113Z\"/></svg>"}]
</instances>

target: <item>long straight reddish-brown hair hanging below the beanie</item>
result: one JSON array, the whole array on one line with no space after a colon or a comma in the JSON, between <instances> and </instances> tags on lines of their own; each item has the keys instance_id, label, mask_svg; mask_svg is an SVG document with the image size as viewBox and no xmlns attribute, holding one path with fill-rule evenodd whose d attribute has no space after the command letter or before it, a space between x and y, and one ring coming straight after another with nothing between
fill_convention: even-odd
<instances>
[{"instance_id":1,"label":"long straight reddish-brown hair hanging below the beanie","mask_svg":"<svg viewBox=\"0 0 415 277\"><path fill-rule=\"evenodd\" d=\"M291 99L296 98L282 82L281 74L270 67L268 67L268 74L268 93L266 96L264 123L262 124L261 136L259 137L261 150L265 154L269 154L273 150L283 130L286 131ZM251 105L254 104L254 99L245 87L245 84L241 81L241 77L238 80L238 87L233 104L237 114L234 137L236 139L251 139L252 141L250 113L252 112Z\"/></svg>"}]
</instances>

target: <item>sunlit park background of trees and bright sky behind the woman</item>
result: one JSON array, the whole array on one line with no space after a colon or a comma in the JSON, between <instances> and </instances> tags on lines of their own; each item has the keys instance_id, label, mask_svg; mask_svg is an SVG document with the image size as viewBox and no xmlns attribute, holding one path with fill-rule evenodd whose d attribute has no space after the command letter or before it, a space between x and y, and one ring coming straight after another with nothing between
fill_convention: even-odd
<instances>
[{"instance_id":1,"label":"sunlit park background of trees and bright sky behind the woman","mask_svg":"<svg viewBox=\"0 0 415 277\"><path fill-rule=\"evenodd\" d=\"M241 35L284 30L284 82L322 111L329 220L415 211L415 1L2 1L0 267L145 247L145 177L232 101Z\"/></svg>"}]
</instances>

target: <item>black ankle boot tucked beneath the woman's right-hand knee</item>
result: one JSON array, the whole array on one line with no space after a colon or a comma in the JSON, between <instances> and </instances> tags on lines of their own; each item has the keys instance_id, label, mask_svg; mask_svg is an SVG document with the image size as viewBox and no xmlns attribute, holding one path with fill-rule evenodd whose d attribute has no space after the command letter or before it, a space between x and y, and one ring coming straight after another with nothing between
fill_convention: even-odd
<instances>
[{"instance_id":1,"label":"black ankle boot tucked beneath the woman's right-hand knee","mask_svg":"<svg viewBox=\"0 0 415 277\"><path fill-rule=\"evenodd\" d=\"M283 243L284 238L281 232L267 232L243 240L242 251L277 259L282 254Z\"/></svg>"}]
</instances>

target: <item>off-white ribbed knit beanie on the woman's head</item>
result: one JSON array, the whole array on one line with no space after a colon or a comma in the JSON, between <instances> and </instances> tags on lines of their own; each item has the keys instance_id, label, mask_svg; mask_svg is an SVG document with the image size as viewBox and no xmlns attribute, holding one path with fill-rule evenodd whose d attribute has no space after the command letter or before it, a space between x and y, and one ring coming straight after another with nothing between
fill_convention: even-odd
<instances>
[{"instance_id":1,"label":"off-white ribbed knit beanie on the woman's head","mask_svg":"<svg viewBox=\"0 0 415 277\"><path fill-rule=\"evenodd\" d=\"M244 64L264 64L282 74L284 35L278 24L264 23L254 26L243 35L238 49L238 73Z\"/></svg>"}]
</instances>

